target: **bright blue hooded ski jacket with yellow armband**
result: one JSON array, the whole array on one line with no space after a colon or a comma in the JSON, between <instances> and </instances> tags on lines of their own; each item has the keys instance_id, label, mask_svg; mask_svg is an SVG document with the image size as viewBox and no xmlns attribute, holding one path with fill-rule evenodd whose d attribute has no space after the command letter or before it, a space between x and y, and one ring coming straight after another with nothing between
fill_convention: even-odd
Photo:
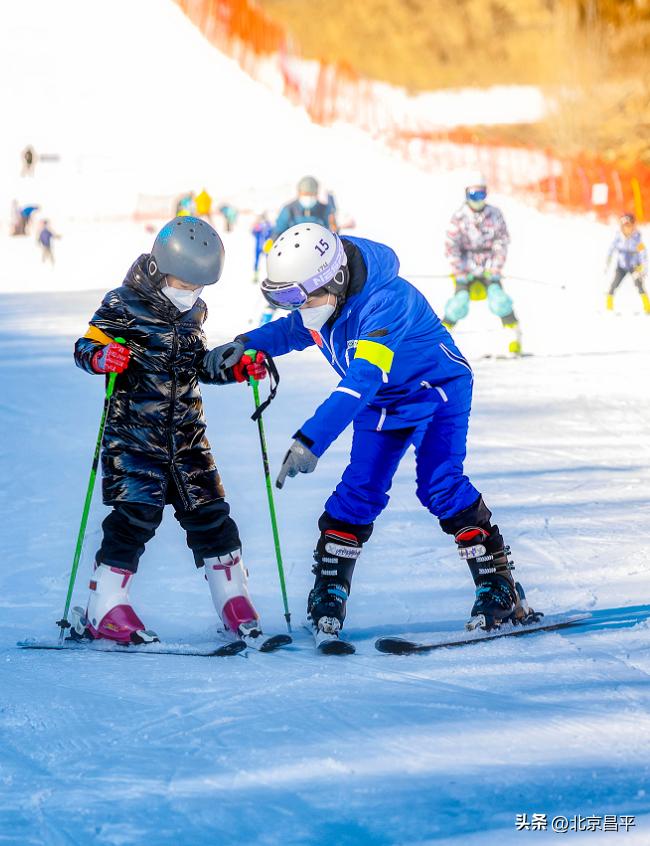
<instances>
[{"instance_id":1,"label":"bright blue hooded ski jacket with yellow armband","mask_svg":"<svg viewBox=\"0 0 650 846\"><path fill-rule=\"evenodd\" d=\"M472 371L424 296L399 273L390 247L345 237L367 275L352 286L338 316L320 332L304 327L300 311L253 329L240 339L271 356L317 344L340 375L334 391L299 435L321 456L354 420L355 429L404 429L429 421L441 403L469 413Z\"/></svg>"}]
</instances>

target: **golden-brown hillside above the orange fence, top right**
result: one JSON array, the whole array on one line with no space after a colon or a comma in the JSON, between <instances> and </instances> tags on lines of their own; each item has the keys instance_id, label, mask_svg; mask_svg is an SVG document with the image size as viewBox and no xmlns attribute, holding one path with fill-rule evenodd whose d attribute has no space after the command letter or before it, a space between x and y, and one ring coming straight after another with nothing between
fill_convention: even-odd
<instances>
[{"instance_id":1,"label":"golden-brown hillside above the orange fence, top right","mask_svg":"<svg viewBox=\"0 0 650 846\"><path fill-rule=\"evenodd\" d=\"M510 136L650 162L650 0L259 3L307 58L411 91L542 85L556 113Z\"/></svg>"}]
</instances>

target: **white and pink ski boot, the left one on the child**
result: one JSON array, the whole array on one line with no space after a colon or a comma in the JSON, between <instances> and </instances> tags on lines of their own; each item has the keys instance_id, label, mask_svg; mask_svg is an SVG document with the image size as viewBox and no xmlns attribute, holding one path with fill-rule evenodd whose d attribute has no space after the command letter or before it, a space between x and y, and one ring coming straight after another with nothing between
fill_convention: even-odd
<instances>
[{"instance_id":1,"label":"white and pink ski boot, the left one on the child","mask_svg":"<svg viewBox=\"0 0 650 846\"><path fill-rule=\"evenodd\" d=\"M129 602L129 586L133 573L119 567L95 563L90 580L90 597L86 613L73 609L79 617L73 628L77 636L105 638L118 643L154 643L155 632L148 631Z\"/></svg>"}]
</instances>

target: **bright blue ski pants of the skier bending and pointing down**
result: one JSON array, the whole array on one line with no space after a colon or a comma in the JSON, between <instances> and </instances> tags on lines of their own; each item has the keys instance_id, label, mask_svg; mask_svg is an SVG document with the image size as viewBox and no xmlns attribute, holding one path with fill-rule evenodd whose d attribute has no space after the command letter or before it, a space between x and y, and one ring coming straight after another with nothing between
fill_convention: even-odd
<instances>
[{"instance_id":1,"label":"bright blue ski pants of the skier bending and pointing down","mask_svg":"<svg viewBox=\"0 0 650 846\"><path fill-rule=\"evenodd\" d=\"M461 380L456 380L460 382ZM350 463L325 511L352 524L372 523L386 508L393 476L406 450L416 456L417 497L439 520L475 503L479 491L463 472L472 399L471 377L436 406L431 419L415 427L375 431L355 429Z\"/></svg>"}]
</instances>

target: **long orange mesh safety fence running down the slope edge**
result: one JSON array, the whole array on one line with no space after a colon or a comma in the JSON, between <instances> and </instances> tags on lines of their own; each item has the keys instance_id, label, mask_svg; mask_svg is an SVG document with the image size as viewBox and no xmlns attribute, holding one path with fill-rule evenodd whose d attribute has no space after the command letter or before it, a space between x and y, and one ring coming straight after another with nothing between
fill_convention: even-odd
<instances>
[{"instance_id":1,"label":"long orange mesh safety fence running down the slope edge","mask_svg":"<svg viewBox=\"0 0 650 846\"><path fill-rule=\"evenodd\" d=\"M471 129L423 125L421 114L398 89L360 77L354 69L305 62L288 33L253 0L175 0L201 33L266 84L280 81L294 104L320 124L352 123L406 158L427 168L480 167L502 191L525 191L540 203L607 218L634 211L650 219L650 168L626 167L587 154L568 157L553 150L481 140Z\"/></svg>"}]
</instances>

